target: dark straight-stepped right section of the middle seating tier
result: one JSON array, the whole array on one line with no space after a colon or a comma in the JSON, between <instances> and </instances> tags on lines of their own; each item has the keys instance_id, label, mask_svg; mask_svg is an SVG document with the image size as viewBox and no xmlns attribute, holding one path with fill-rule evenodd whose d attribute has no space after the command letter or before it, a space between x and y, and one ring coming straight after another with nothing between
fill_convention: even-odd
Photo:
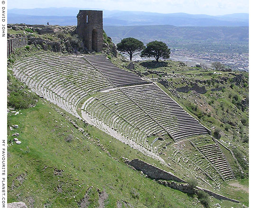
<instances>
[{"instance_id":1,"label":"dark straight-stepped right section of the middle seating tier","mask_svg":"<svg viewBox=\"0 0 256 208\"><path fill-rule=\"evenodd\" d=\"M161 126L165 127L165 130L175 141L193 135L208 134L208 130L202 126L199 121L194 119L189 113L186 113L174 100L168 97L154 84L137 87L122 87L121 89L126 95L136 100L136 103L147 114L151 115L155 121L162 124ZM162 104L162 100L164 100L165 103ZM167 101L169 101L169 103ZM165 109L159 108L159 104L165 105ZM170 122L167 126L166 121ZM196 125L191 126L190 124Z\"/></svg>"}]
</instances>

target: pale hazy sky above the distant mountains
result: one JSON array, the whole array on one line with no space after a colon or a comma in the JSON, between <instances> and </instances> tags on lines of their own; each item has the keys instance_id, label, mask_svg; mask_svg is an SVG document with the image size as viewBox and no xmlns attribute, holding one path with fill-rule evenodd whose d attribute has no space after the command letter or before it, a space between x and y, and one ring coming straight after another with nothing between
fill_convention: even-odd
<instances>
[{"instance_id":1,"label":"pale hazy sky above the distant mountains","mask_svg":"<svg viewBox=\"0 0 256 208\"><path fill-rule=\"evenodd\" d=\"M158 13L223 15L248 13L249 0L9 0L8 9L77 7Z\"/></svg>"}]
</instances>

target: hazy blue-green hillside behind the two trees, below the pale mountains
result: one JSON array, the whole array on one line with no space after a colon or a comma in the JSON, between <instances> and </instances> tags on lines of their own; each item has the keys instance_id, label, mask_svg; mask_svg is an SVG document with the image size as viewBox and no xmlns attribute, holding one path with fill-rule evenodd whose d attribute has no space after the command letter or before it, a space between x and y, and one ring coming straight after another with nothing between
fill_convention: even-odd
<instances>
[{"instance_id":1,"label":"hazy blue-green hillside behind the two trees, below the pale mountains","mask_svg":"<svg viewBox=\"0 0 256 208\"><path fill-rule=\"evenodd\" d=\"M104 26L114 43L134 37L144 43L163 41L170 48L193 52L248 52L248 27L191 27L191 26Z\"/></svg>"}]
</instances>

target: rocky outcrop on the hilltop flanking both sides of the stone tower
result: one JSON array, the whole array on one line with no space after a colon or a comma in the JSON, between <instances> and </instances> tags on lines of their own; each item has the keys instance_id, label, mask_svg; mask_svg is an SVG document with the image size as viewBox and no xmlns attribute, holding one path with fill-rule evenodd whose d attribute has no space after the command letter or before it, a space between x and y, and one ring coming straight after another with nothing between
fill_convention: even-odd
<instances>
[{"instance_id":1,"label":"rocky outcrop on the hilltop flanking both sides of the stone tower","mask_svg":"<svg viewBox=\"0 0 256 208\"><path fill-rule=\"evenodd\" d=\"M83 40L75 34L75 26L8 24L8 28L23 31L22 34L8 35L8 56L14 49L26 45L39 46L45 51L89 53ZM117 47L110 37L103 43L103 52L117 57Z\"/></svg>"}]
</instances>

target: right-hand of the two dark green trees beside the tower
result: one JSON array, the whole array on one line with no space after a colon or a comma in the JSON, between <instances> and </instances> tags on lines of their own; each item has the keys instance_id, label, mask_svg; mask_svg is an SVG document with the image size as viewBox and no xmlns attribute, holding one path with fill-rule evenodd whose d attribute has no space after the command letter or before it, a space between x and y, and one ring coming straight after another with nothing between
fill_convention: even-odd
<instances>
[{"instance_id":1,"label":"right-hand of the two dark green trees beside the tower","mask_svg":"<svg viewBox=\"0 0 256 208\"><path fill-rule=\"evenodd\" d=\"M141 52L140 56L153 56L156 62L158 62L160 57L163 57L164 59L170 58L170 49L168 49L168 46L161 41L152 41L146 44L146 48Z\"/></svg>"}]
</instances>

